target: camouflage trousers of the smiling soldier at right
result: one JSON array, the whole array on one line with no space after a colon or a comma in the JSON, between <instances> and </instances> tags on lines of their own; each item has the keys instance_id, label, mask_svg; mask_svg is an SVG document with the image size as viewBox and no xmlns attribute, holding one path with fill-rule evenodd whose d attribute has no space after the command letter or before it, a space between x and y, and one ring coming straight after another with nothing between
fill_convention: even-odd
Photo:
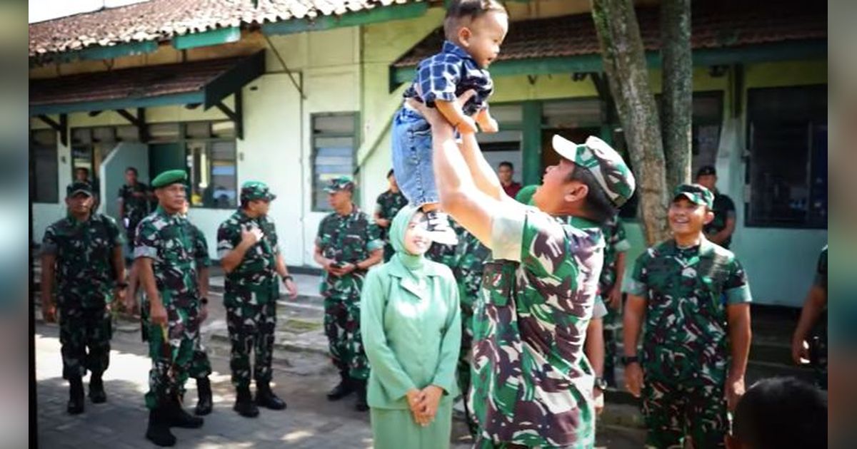
<instances>
[{"instance_id":1,"label":"camouflage trousers of the smiling soldier at right","mask_svg":"<svg viewBox=\"0 0 857 449\"><path fill-rule=\"evenodd\" d=\"M694 449L724 447L729 421L723 382L675 384L644 379L643 416L646 446L680 449L690 436Z\"/></svg>"}]
</instances>

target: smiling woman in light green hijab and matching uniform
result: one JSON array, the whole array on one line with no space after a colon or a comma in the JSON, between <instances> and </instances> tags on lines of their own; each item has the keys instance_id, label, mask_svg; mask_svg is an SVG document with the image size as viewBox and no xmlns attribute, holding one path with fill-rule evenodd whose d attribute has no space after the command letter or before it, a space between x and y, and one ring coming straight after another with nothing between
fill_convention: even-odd
<instances>
[{"instance_id":1,"label":"smiling woman in light green hijab and matching uniform","mask_svg":"<svg viewBox=\"0 0 857 449\"><path fill-rule=\"evenodd\" d=\"M431 240L422 221L411 205L399 210L390 226L396 253L363 283L360 328L372 367L376 449L449 447L461 311L452 271L423 257Z\"/></svg>"}]
</instances>

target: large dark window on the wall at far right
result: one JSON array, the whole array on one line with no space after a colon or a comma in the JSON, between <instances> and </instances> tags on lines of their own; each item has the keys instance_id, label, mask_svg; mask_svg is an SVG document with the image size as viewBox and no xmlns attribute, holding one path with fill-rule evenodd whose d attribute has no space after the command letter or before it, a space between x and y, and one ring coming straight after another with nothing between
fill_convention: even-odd
<instances>
[{"instance_id":1,"label":"large dark window on the wall at far right","mask_svg":"<svg viewBox=\"0 0 857 449\"><path fill-rule=\"evenodd\" d=\"M747 91L747 225L827 227L827 86Z\"/></svg>"}]
</instances>

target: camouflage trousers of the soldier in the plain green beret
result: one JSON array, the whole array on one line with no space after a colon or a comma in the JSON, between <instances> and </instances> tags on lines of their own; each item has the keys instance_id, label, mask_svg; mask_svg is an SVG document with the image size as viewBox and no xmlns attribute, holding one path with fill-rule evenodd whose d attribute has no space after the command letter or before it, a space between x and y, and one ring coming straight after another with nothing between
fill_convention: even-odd
<instances>
[{"instance_id":1,"label":"camouflage trousers of the soldier in the plain green beret","mask_svg":"<svg viewBox=\"0 0 857 449\"><path fill-rule=\"evenodd\" d=\"M149 391L146 406L149 409L164 404L167 398L184 394L184 383L190 376L195 350L200 344L200 303L198 298L170 298L165 301L167 324L160 326L148 322Z\"/></svg>"}]
</instances>

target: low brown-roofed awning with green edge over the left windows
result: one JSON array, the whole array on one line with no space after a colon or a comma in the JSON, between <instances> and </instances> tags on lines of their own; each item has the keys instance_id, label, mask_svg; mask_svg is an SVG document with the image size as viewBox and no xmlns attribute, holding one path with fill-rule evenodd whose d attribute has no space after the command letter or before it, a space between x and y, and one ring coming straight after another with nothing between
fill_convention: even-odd
<instances>
[{"instance_id":1,"label":"low brown-roofed awning with green edge over the left windows","mask_svg":"<svg viewBox=\"0 0 857 449\"><path fill-rule=\"evenodd\" d=\"M265 72L265 52L30 80L30 115L201 104L205 109Z\"/></svg>"}]
</instances>

